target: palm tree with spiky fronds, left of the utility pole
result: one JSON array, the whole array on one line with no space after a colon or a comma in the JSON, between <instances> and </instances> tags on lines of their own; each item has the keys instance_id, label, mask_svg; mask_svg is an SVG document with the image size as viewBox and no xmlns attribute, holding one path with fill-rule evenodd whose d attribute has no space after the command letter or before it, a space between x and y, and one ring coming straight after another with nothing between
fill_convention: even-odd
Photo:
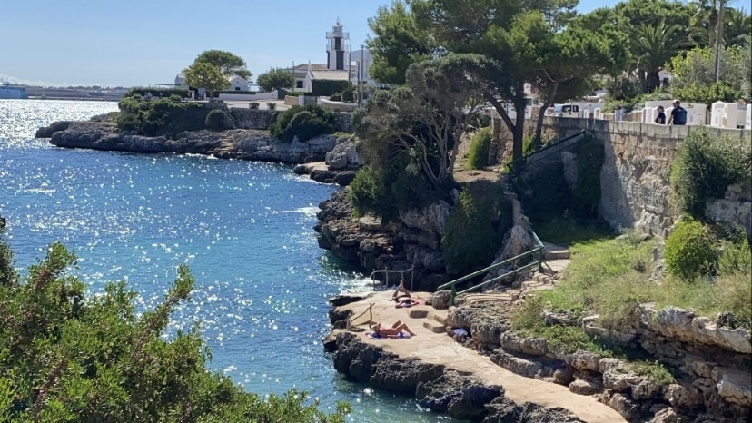
<instances>
[{"instance_id":1,"label":"palm tree with spiky fronds, left of the utility pole","mask_svg":"<svg viewBox=\"0 0 752 423\"><path fill-rule=\"evenodd\" d=\"M660 84L658 72L689 45L686 30L678 24L666 25L665 19L632 29L629 50L645 92L655 91Z\"/></svg>"}]
</instances>

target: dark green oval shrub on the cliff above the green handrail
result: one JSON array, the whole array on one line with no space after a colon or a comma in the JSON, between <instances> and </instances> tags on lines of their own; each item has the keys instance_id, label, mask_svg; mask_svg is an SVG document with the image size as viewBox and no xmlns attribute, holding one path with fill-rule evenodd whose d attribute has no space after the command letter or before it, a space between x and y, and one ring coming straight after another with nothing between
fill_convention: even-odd
<instances>
[{"instance_id":1,"label":"dark green oval shrub on the cliff above the green handrail","mask_svg":"<svg viewBox=\"0 0 752 423\"><path fill-rule=\"evenodd\" d=\"M499 183L464 185L441 237L447 271L463 274L490 264L510 226L511 204L504 200Z\"/></svg>"}]
</instances>

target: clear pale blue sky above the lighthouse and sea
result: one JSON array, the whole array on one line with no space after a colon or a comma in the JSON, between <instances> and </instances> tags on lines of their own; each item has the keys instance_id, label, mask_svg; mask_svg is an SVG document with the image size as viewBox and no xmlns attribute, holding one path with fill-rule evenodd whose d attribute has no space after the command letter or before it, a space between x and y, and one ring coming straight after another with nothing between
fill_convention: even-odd
<instances>
[{"instance_id":1,"label":"clear pale blue sky above the lighthouse and sea","mask_svg":"<svg viewBox=\"0 0 752 423\"><path fill-rule=\"evenodd\" d=\"M462 0L458 0L462 1ZM617 0L581 0L579 12ZM205 50L271 67L326 63L337 18L353 50L391 0L2 0L0 80L20 84L173 84Z\"/></svg>"}]
</instances>

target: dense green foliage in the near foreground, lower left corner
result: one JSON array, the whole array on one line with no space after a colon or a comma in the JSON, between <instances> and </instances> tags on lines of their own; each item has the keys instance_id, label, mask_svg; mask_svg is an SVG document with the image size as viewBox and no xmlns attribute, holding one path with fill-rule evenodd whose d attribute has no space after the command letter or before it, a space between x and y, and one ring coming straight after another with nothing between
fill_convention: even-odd
<instances>
[{"instance_id":1,"label":"dense green foliage in the near foreground, lower left corner","mask_svg":"<svg viewBox=\"0 0 752 423\"><path fill-rule=\"evenodd\" d=\"M295 390L264 400L210 373L197 328L163 339L193 289L185 265L163 302L139 315L124 282L84 296L61 244L24 280L0 247L0 421L344 422L350 412L341 403L327 415Z\"/></svg>"}]
</instances>

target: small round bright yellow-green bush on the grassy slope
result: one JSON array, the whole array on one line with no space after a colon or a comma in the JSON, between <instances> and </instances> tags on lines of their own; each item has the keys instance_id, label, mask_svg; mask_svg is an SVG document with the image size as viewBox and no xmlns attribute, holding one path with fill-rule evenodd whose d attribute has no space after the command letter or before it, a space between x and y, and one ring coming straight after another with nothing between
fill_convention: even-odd
<instances>
[{"instance_id":1,"label":"small round bright yellow-green bush on the grassy slope","mask_svg":"<svg viewBox=\"0 0 752 423\"><path fill-rule=\"evenodd\" d=\"M666 239L663 254L666 270L688 280L712 273L717 265L713 235L701 222L691 219L677 223Z\"/></svg>"}]
</instances>

